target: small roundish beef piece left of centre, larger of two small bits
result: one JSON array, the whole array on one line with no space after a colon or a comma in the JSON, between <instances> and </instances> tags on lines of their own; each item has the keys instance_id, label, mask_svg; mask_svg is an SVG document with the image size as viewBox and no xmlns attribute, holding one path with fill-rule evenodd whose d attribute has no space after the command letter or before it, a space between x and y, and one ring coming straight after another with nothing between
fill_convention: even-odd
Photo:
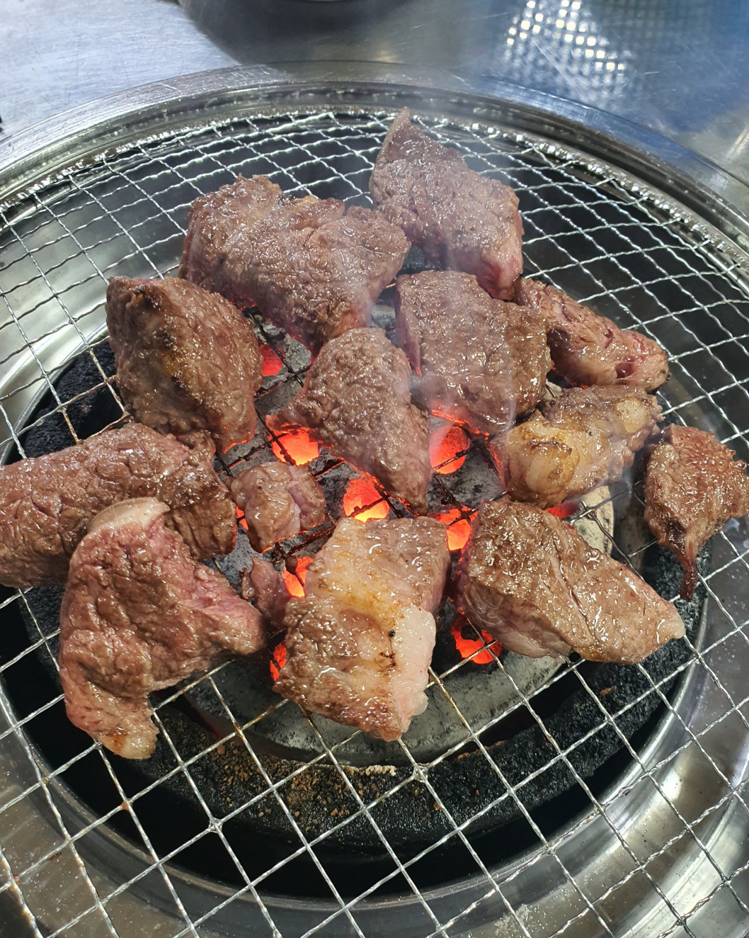
<instances>
[{"instance_id":1,"label":"small roundish beef piece left of centre, larger of two small bits","mask_svg":"<svg viewBox=\"0 0 749 938\"><path fill-rule=\"evenodd\" d=\"M229 489L245 512L247 536L256 551L325 520L325 496L308 466L263 462L243 469Z\"/></svg>"}]
</instances>

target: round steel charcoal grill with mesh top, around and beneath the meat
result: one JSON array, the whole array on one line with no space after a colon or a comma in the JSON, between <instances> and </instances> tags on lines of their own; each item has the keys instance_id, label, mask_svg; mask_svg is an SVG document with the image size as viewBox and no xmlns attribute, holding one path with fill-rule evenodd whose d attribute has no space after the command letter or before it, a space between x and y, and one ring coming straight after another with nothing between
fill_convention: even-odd
<instances>
[{"instance_id":1,"label":"round steel charcoal grill with mesh top, around and beneath the meat","mask_svg":"<svg viewBox=\"0 0 749 938\"><path fill-rule=\"evenodd\" d=\"M241 171L270 174L294 194L365 203L401 104L474 168L517 188L526 273L667 347L667 418L715 431L746 456L749 264L723 235L663 192L550 143L529 111L403 82L253 79L251 88L233 73L203 80L179 101L139 108L120 123L116 150L80 134L90 149L84 165L52 147L36 164L19 158L15 175L0 165L6 460L68 446L122 418L104 280L173 272L197 194ZM544 132L571 130L559 122ZM576 132L579 146L593 147ZM52 159L62 172L45 182ZM378 308L381 325L390 316ZM255 325L283 365L262 387L259 435L218 463L226 473L267 458L274 441L264 417L298 391L307 367L298 343L260 317ZM310 465L332 523L355 474L325 450ZM458 507L468 517L498 491L474 443L457 472L435 475L430 513ZM389 508L405 513L397 501ZM613 486L580 515L589 536L663 595L678 595L681 567L641 522L639 483ZM271 559L309 555L331 523L278 545ZM240 541L217 562L235 583L252 553ZM0 598L0 763L12 765L0 784L5 888L49 933L115 938L156 926L193 936L478 935L490 921L497 935L697 935L711 933L699 929L716 901L741 922L745 857L718 833L729 821L749 827L749 733L736 684L747 654L747 547L743 522L715 538L695 598L680 600L687 640L643 666L560 668L506 653L487 664L463 660L448 605L431 703L402 743L368 740L280 702L265 655L160 694L157 753L143 764L101 750L64 717L60 591L8 590ZM690 792L681 779L699 784Z\"/></svg>"}]
</instances>

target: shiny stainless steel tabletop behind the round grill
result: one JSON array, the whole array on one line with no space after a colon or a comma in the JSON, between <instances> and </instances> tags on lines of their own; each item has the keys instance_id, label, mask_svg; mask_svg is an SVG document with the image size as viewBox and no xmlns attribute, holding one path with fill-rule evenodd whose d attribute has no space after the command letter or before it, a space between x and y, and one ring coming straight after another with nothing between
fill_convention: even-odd
<instances>
[{"instance_id":1,"label":"shiny stainless steel tabletop behind the round grill","mask_svg":"<svg viewBox=\"0 0 749 938\"><path fill-rule=\"evenodd\" d=\"M5 134L235 62L377 61L592 105L749 182L743 0L0 0L0 16Z\"/></svg>"}]
</instances>

